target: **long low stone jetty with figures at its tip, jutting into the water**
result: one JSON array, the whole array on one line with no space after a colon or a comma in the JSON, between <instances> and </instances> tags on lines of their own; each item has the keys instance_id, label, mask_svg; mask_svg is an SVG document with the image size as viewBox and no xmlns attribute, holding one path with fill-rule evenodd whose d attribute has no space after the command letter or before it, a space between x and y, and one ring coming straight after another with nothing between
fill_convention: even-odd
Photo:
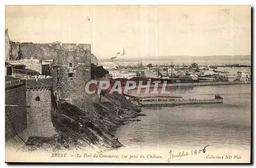
<instances>
[{"instance_id":1,"label":"long low stone jetty with figures at its tip, jutting into the water","mask_svg":"<svg viewBox=\"0 0 256 168\"><path fill-rule=\"evenodd\" d=\"M223 103L223 99L199 99L199 100L170 100L170 101L141 101L139 104L144 107L155 106L176 106L186 104L211 104L211 103Z\"/></svg>"}]
</instances>

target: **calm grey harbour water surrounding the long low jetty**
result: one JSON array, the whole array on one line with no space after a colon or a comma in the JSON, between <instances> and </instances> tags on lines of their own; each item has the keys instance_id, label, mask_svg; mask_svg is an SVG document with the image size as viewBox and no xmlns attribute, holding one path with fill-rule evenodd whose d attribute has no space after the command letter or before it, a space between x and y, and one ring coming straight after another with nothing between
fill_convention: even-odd
<instances>
[{"instance_id":1,"label":"calm grey harbour water surrounding the long low jetty","mask_svg":"<svg viewBox=\"0 0 256 168\"><path fill-rule=\"evenodd\" d=\"M141 120L120 126L118 151L141 152L196 149L206 145L218 151L250 150L251 84L167 88L184 99L223 97L223 104L143 108ZM129 92L136 95L136 90ZM142 94L143 95L143 94ZM219 154L217 152L217 154ZM228 152L227 152L228 153ZM167 155L166 155L167 156Z\"/></svg>"}]
</instances>

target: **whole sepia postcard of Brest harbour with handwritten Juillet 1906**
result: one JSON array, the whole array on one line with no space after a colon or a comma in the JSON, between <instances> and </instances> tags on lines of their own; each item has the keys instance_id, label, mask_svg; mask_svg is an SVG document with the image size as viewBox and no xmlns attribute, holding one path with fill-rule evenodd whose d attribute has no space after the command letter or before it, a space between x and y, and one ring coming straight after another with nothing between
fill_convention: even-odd
<instances>
[{"instance_id":1,"label":"whole sepia postcard of Brest harbour with handwritten Juillet 1906","mask_svg":"<svg viewBox=\"0 0 256 168\"><path fill-rule=\"evenodd\" d=\"M251 6L5 11L6 162L251 162Z\"/></svg>"}]
</instances>

